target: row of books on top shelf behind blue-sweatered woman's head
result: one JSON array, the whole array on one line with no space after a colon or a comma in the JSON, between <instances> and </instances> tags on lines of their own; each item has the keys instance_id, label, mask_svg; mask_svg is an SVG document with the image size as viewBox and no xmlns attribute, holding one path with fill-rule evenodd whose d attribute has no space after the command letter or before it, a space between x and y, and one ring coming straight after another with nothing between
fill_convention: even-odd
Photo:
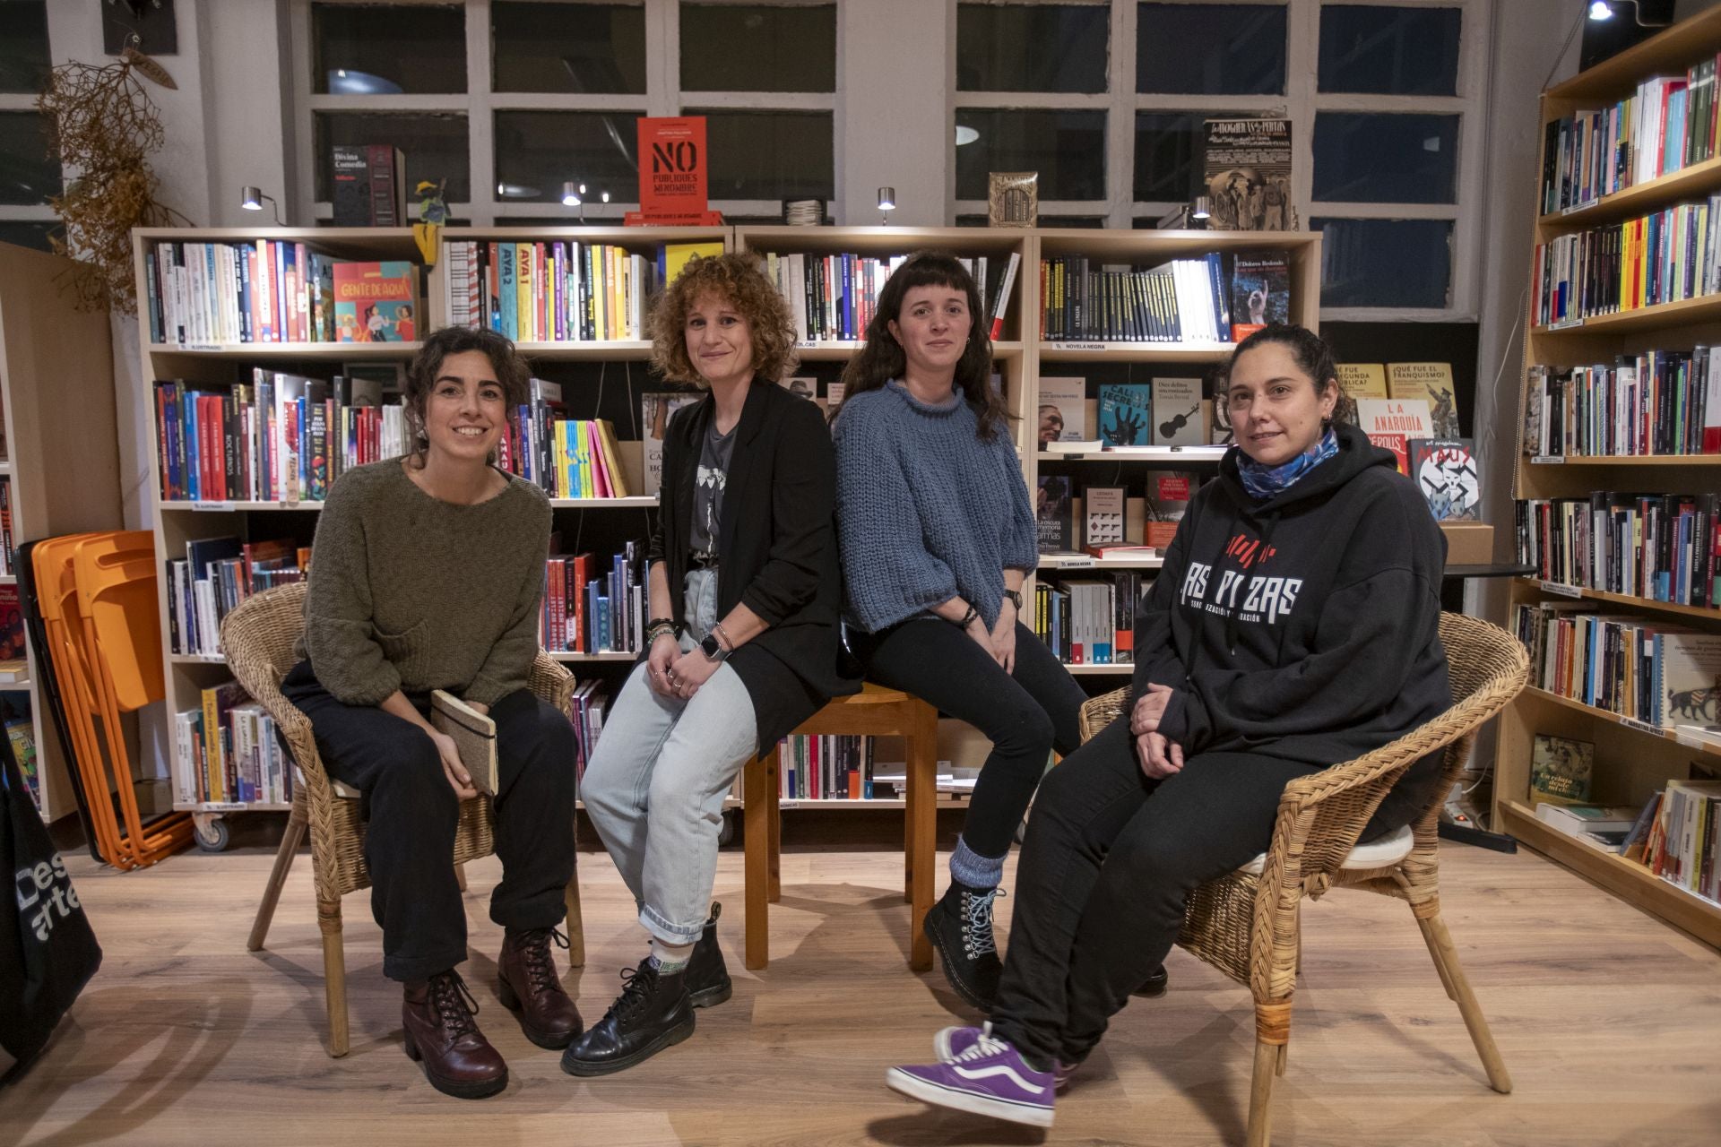
<instances>
[{"instance_id":1,"label":"row of books on top shelf behind blue-sweatered woman's head","mask_svg":"<svg viewBox=\"0 0 1721 1147\"><path fill-rule=\"evenodd\" d=\"M864 339L867 323L878 311L878 296L907 260L905 255L874 258L869 255L764 253L766 277L776 284L795 316L795 337L802 342ZM998 260L979 255L959 258L974 277L984 315L983 322L996 339L1003 334L1003 313L1021 255Z\"/></svg>"}]
</instances>

